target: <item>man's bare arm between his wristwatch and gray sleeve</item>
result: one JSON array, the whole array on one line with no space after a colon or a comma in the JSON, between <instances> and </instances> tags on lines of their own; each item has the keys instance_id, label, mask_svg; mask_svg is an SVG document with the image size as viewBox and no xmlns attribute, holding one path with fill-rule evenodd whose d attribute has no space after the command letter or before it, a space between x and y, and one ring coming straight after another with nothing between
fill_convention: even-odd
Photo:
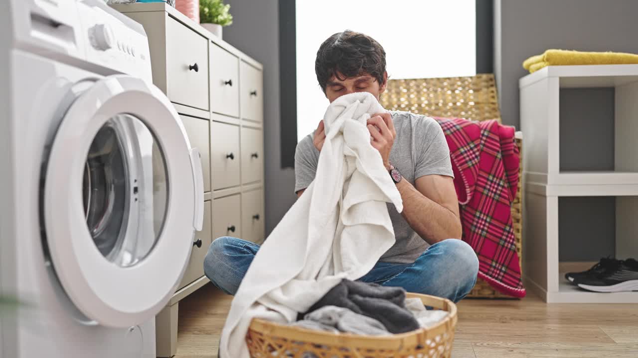
<instances>
[{"instance_id":1,"label":"man's bare arm between his wristwatch and gray sleeve","mask_svg":"<svg viewBox=\"0 0 638 358\"><path fill-rule=\"evenodd\" d=\"M403 199L401 215L410 227L430 245L445 239L460 239L459 200L450 176L425 175L416 187L401 179L397 189Z\"/></svg>"}]
</instances>

